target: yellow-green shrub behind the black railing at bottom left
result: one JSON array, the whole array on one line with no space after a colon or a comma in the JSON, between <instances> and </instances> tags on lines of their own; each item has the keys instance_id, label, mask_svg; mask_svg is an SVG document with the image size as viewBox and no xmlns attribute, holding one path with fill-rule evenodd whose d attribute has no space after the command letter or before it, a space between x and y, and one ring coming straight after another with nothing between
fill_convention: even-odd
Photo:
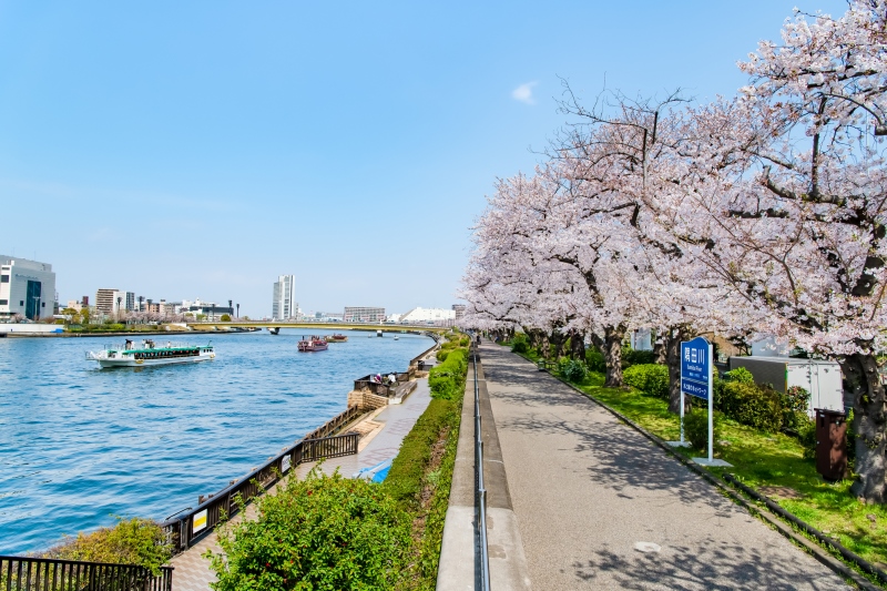
<instances>
[{"instance_id":1,"label":"yellow-green shrub behind the black railing at bottom left","mask_svg":"<svg viewBox=\"0 0 887 591\"><path fill-rule=\"evenodd\" d=\"M78 533L51 548L42 558L139 564L154 574L172 557L172 548L160 524L146 519L118 518L113 528Z\"/></svg>"}]
</instances>

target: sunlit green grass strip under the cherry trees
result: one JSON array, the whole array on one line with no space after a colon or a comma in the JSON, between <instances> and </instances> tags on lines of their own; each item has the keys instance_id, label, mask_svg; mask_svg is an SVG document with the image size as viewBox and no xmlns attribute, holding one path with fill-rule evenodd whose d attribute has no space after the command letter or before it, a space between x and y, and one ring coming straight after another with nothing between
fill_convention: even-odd
<instances>
[{"instance_id":1,"label":"sunlit green grass strip under the cherry trees","mask_svg":"<svg viewBox=\"0 0 887 591\"><path fill-rule=\"evenodd\" d=\"M534 361L539 356L531 350L524 357ZM679 418L669 412L666 400L636 390L604 388L603 376L595 373L577 386L662 439L680 438ZM804 459L804 448L794 437L763 432L722 418L718 440L728 445L716 448L715 457L733 467L708 470L718 476L733 473L849 550L887 568L887 506L856 500L849 493L850 479L837 483L823 480L814 460ZM691 448L675 450L687 457L707 454Z\"/></svg>"}]
</instances>

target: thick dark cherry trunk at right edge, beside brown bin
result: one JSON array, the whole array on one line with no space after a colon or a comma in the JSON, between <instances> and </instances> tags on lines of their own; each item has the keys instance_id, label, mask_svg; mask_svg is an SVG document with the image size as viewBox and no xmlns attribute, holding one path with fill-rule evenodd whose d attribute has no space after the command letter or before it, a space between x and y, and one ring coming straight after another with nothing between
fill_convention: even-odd
<instances>
[{"instance_id":1,"label":"thick dark cherry trunk at right edge, beside brown bin","mask_svg":"<svg viewBox=\"0 0 887 591\"><path fill-rule=\"evenodd\" d=\"M856 482L850 492L868 503L887 502L887 396L873 355L855 354L840 364L853 393Z\"/></svg>"}]
</instances>

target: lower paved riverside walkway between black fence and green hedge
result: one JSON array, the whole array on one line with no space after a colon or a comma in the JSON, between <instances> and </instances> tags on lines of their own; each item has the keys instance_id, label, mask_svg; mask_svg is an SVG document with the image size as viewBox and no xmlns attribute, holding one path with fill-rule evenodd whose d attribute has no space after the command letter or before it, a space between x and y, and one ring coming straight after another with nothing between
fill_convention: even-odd
<instances>
[{"instance_id":1,"label":"lower paved riverside walkway between black fence and green hedge","mask_svg":"<svg viewBox=\"0 0 887 591\"><path fill-rule=\"evenodd\" d=\"M370 468L397 455L404 438L412 429L416 420L428 408L431 394L428 379L416 380L416 389L402 404L388 405L370 414L355 426L361 432L358 452L356 456L333 458L323 462L322 470L333 473L337 468L339 473L350 478L361 468ZM348 429L351 430L351 429ZM296 468L298 478L305 478L317 462L299 465ZM276 487L272 488L274 491ZM248 519L255 518L255 506L251 505L244 511ZM241 513L234 519L243 518ZM210 561L202 557L206 550L221 552L216 541L216 533L212 532L185 552L174 557L171 561L175 567L173 572L173 591L208 591L210 583L215 581L215 573L210 570Z\"/></svg>"}]
</instances>

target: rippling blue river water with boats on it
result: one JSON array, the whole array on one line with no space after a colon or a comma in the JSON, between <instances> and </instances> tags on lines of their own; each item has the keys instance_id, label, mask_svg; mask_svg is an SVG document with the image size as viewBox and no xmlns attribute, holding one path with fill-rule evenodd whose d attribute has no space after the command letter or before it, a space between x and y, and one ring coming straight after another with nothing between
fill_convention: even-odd
<instances>
[{"instance_id":1,"label":"rippling blue river water with boats on it","mask_svg":"<svg viewBox=\"0 0 887 591\"><path fill-rule=\"evenodd\" d=\"M84 360L110 337L0 339L0 554L114 516L163 520L196 507L197 495L343 411L356 378L406 370L434 344L349 330L348 343L298 353L303 334L180 337L212 339L216 358L132 369Z\"/></svg>"}]
</instances>

